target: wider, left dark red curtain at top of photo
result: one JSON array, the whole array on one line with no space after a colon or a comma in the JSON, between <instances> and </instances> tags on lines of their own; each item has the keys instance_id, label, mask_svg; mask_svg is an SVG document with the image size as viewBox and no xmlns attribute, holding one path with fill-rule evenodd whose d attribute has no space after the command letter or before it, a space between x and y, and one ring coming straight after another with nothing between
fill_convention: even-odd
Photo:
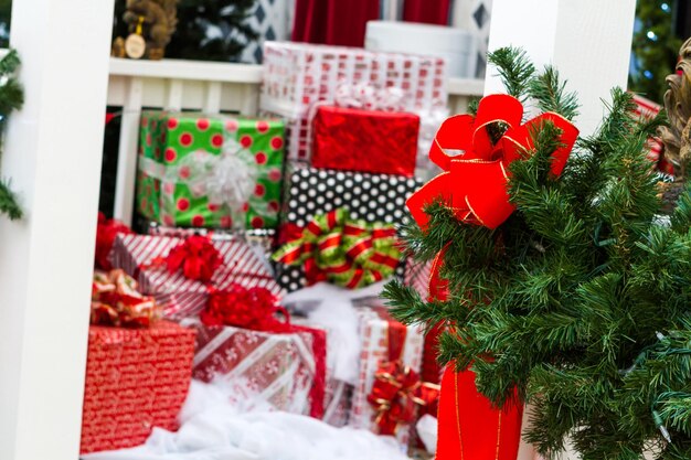
<instances>
[{"instance_id":1,"label":"wider, left dark red curtain at top of photo","mask_svg":"<svg viewBox=\"0 0 691 460\"><path fill-rule=\"evenodd\" d=\"M366 22L380 18L379 7L380 0L297 0L293 41L363 46Z\"/></svg>"}]
</instances>

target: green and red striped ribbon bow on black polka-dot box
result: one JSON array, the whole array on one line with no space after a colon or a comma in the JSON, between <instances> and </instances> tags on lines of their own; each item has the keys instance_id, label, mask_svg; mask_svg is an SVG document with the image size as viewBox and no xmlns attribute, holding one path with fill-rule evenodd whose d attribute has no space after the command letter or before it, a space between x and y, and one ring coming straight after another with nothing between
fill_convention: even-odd
<instances>
[{"instance_id":1,"label":"green and red striped ribbon bow on black polka-dot box","mask_svg":"<svg viewBox=\"0 0 691 460\"><path fill-rule=\"evenodd\" d=\"M315 216L274 260L301 265L310 285L326 280L355 289L393 275L401 250L393 225L352 221L338 208Z\"/></svg>"}]
</instances>

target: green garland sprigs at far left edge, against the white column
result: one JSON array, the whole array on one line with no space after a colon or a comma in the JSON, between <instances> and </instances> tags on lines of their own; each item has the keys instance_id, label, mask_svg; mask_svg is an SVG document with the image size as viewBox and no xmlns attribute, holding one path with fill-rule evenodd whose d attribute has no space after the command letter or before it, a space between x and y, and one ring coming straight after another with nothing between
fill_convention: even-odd
<instances>
[{"instance_id":1,"label":"green garland sprigs at far left edge, against the white column","mask_svg":"<svg viewBox=\"0 0 691 460\"><path fill-rule=\"evenodd\" d=\"M10 51L0 60L0 133L4 132L10 114L24 104L24 92L19 81L13 76L20 61L17 51ZM2 140L0 139L0 153ZM9 181L0 181L0 212L17 220L22 216L22 210Z\"/></svg>"}]
</instances>

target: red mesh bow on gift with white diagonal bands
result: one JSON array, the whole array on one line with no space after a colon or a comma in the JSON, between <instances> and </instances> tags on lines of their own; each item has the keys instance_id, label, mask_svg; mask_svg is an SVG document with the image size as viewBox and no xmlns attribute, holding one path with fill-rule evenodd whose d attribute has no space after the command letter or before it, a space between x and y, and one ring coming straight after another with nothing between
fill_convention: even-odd
<instances>
[{"instance_id":1,"label":"red mesh bow on gift with white diagonal bands","mask_svg":"<svg viewBox=\"0 0 691 460\"><path fill-rule=\"evenodd\" d=\"M254 331L283 332L290 327L289 315L277 301L276 296L266 288L247 289L232 285L224 290L210 292L200 319L205 325L234 325ZM281 313L285 321L278 321L276 313Z\"/></svg>"}]
</instances>

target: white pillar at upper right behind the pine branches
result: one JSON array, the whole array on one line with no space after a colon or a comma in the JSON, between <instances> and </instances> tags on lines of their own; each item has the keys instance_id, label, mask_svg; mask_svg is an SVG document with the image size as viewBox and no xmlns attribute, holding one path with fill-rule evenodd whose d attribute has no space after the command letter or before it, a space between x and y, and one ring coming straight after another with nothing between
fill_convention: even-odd
<instances>
[{"instance_id":1,"label":"white pillar at upper right behind the pine branches","mask_svg":"<svg viewBox=\"0 0 691 460\"><path fill-rule=\"evenodd\" d=\"M553 64L578 94L581 135L604 114L600 99L626 88L636 0L495 0L489 50L520 46L542 68ZM488 68L485 93L502 92Z\"/></svg>"}]
</instances>

